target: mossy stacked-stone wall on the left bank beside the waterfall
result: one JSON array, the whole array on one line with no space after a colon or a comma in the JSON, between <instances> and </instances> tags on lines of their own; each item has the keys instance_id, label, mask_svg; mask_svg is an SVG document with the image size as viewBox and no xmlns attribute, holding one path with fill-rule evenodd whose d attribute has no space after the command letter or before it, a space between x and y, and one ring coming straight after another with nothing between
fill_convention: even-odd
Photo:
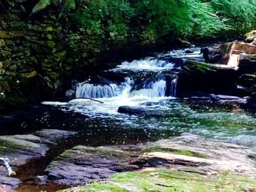
<instances>
[{"instance_id":1,"label":"mossy stacked-stone wall on the left bank beside the waterfall","mask_svg":"<svg viewBox=\"0 0 256 192\"><path fill-rule=\"evenodd\" d=\"M29 16L20 7L0 12L0 109L8 98L49 99L71 79L167 44L140 29L94 34L55 15L48 9Z\"/></svg>"}]
</instances>

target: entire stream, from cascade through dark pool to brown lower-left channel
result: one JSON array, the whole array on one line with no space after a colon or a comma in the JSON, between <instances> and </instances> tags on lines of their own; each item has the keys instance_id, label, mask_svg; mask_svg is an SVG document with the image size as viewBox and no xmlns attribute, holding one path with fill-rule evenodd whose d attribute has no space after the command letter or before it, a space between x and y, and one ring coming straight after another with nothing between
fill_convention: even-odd
<instances>
[{"instance_id":1,"label":"entire stream, from cascade through dark pool to brown lower-left channel","mask_svg":"<svg viewBox=\"0 0 256 192\"><path fill-rule=\"evenodd\" d=\"M184 61L203 61L200 49L194 48L190 52L173 50L154 58L123 62L114 69L78 82L75 85L76 99L42 102L58 110L44 112L42 118L37 118L37 128L70 129L78 134L59 141L44 157L32 158L20 167L22 171L18 172L18 178L22 183L17 190L65 188L34 181L37 175L44 174L50 161L76 145L138 144L190 132L256 148L255 115L241 110L239 104L216 103L208 97L176 97L178 72L181 72ZM73 92L69 90L67 95ZM118 107L134 110L132 114L135 115L120 113ZM29 123L23 124L28 130Z\"/></svg>"}]
</instances>

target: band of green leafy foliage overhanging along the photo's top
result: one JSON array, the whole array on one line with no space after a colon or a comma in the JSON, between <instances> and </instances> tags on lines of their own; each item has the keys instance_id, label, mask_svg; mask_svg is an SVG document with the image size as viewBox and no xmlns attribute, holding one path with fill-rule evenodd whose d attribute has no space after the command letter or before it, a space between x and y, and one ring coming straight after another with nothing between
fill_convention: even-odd
<instances>
[{"instance_id":1,"label":"band of green leafy foliage overhanging along the photo's top","mask_svg":"<svg viewBox=\"0 0 256 192\"><path fill-rule=\"evenodd\" d=\"M23 0L1 0L0 8ZM256 0L37 0L32 13L52 6L91 34L195 39L245 34L256 27Z\"/></svg>"}]
</instances>

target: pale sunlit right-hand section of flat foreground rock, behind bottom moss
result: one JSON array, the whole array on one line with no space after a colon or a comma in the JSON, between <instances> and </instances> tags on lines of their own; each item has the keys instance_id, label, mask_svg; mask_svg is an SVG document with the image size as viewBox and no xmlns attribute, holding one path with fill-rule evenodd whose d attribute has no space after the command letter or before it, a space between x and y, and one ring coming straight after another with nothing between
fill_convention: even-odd
<instances>
[{"instance_id":1,"label":"pale sunlit right-hand section of flat foreground rock, behind bottom moss","mask_svg":"<svg viewBox=\"0 0 256 192\"><path fill-rule=\"evenodd\" d=\"M164 162L185 166L207 166L208 169L256 176L256 164L250 158L254 152L249 147L241 145L206 140L193 134L182 134L181 137L154 142L144 150L147 153L140 155L137 160L140 163L146 162L157 166L157 159L161 165ZM161 153L158 153L159 150Z\"/></svg>"}]
</instances>

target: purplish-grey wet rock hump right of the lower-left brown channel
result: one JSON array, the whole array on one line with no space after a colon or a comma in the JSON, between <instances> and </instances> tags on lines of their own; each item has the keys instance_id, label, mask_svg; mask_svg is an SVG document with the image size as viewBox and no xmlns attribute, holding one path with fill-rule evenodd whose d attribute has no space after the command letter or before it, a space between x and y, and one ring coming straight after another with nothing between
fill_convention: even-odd
<instances>
[{"instance_id":1,"label":"purplish-grey wet rock hump right of the lower-left brown channel","mask_svg":"<svg viewBox=\"0 0 256 192\"><path fill-rule=\"evenodd\" d=\"M77 146L59 155L45 170L46 180L75 186L90 180L102 180L116 172L132 171L138 166L129 164L131 151L121 147Z\"/></svg>"}]
</instances>

